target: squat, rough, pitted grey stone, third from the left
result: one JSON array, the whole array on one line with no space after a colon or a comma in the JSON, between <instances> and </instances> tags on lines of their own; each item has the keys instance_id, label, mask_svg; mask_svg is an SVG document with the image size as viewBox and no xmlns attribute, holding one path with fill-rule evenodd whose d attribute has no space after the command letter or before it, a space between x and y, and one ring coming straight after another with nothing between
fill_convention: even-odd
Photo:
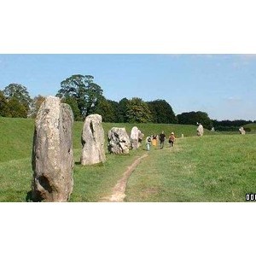
<instances>
[{"instance_id":1,"label":"squat, rough, pitted grey stone, third from the left","mask_svg":"<svg viewBox=\"0 0 256 256\"><path fill-rule=\"evenodd\" d=\"M113 127L108 131L108 152L113 154L128 154L131 147L130 138L125 128Z\"/></svg>"}]
</instances>

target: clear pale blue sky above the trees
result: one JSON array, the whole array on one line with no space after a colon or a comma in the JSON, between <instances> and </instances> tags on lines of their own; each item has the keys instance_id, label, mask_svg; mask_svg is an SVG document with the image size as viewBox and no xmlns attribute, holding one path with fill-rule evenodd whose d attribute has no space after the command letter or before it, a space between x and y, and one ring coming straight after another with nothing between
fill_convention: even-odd
<instances>
[{"instance_id":1,"label":"clear pale blue sky above the trees","mask_svg":"<svg viewBox=\"0 0 256 256\"><path fill-rule=\"evenodd\" d=\"M25 85L31 96L55 95L73 74L90 74L108 99L164 99L174 113L211 119L256 119L256 55L0 55L0 90Z\"/></svg>"}]
</instances>

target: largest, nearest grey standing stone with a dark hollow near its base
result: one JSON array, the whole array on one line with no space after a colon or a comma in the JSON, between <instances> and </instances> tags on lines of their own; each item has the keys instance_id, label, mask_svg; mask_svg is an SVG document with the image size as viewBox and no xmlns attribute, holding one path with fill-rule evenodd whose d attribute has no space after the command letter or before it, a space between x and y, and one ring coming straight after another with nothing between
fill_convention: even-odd
<instances>
[{"instance_id":1,"label":"largest, nearest grey standing stone with a dark hollow near its base","mask_svg":"<svg viewBox=\"0 0 256 256\"><path fill-rule=\"evenodd\" d=\"M32 147L32 200L68 201L73 191L73 112L48 96L39 108Z\"/></svg>"}]
</instances>

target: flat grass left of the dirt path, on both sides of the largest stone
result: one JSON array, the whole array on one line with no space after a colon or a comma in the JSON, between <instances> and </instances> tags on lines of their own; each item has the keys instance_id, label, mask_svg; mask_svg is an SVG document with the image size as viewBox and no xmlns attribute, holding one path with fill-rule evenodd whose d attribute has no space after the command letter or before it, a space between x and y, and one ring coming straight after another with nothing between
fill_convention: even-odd
<instances>
[{"instance_id":1,"label":"flat grass left of the dirt path, on both sides of the largest stone","mask_svg":"<svg viewBox=\"0 0 256 256\"><path fill-rule=\"evenodd\" d=\"M73 170L73 193L69 201L96 202L110 195L113 186L126 166L130 166L143 150L132 151L129 155L107 154L107 162L96 166L79 164L80 150L74 152L75 166ZM0 164L0 201L30 201L32 183L31 158L11 160Z\"/></svg>"}]
</instances>

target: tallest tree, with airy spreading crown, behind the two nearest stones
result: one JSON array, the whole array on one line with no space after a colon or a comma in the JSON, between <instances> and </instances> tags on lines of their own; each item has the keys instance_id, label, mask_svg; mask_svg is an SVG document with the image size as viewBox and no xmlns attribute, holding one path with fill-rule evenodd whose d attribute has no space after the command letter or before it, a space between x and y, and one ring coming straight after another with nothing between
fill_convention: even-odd
<instances>
[{"instance_id":1,"label":"tallest tree, with airy spreading crown, behind the two nearest stones","mask_svg":"<svg viewBox=\"0 0 256 256\"><path fill-rule=\"evenodd\" d=\"M95 112L97 101L103 93L101 86L93 83L93 79L91 75L73 75L61 82L56 96L75 99L81 116L86 117Z\"/></svg>"}]
</instances>

